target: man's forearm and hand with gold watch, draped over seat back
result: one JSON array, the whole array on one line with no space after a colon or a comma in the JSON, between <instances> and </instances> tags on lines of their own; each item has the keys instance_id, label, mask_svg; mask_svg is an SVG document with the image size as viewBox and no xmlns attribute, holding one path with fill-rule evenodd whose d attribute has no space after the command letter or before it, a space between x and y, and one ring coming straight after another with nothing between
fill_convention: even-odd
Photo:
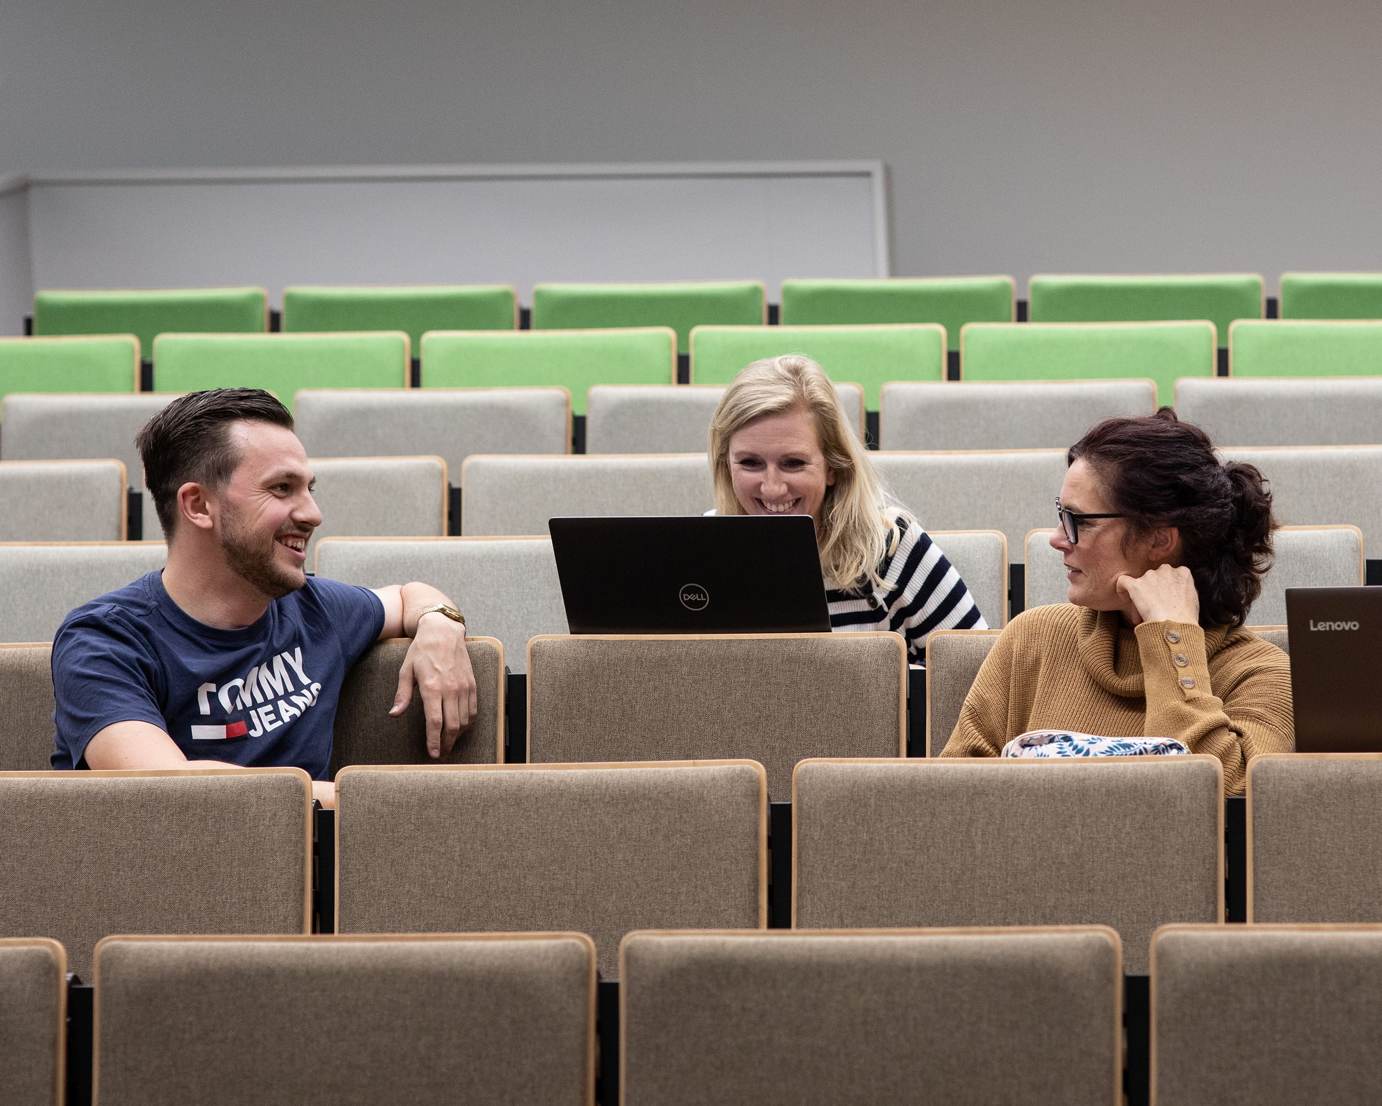
<instances>
[{"instance_id":1,"label":"man's forearm and hand with gold watch, draped over seat back","mask_svg":"<svg viewBox=\"0 0 1382 1106\"><path fill-rule=\"evenodd\" d=\"M384 628L380 639L412 637L413 644L398 671L398 694L388 712L398 718L413 698L413 684L422 693L427 719L427 753L446 756L460 731L480 709L475 700L475 673L466 650L466 628L446 615L420 615L427 607L455 604L427 583L402 583L375 592L384 604ZM88 762L90 763L90 762Z\"/></svg>"}]
</instances>

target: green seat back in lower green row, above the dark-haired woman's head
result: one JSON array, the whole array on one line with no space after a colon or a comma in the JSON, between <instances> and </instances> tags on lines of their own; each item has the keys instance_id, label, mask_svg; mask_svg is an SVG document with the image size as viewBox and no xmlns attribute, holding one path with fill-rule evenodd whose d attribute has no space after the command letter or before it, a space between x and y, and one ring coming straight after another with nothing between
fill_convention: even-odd
<instances>
[{"instance_id":1,"label":"green seat back in lower green row, above the dark-haired woman's head","mask_svg":"<svg viewBox=\"0 0 1382 1106\"><path fill-rule=\"evenodd\" d=\"M1157 382L1171 404L1177 377L1213 376L1215 330L1208 322L974 324L965 328L965 380Z\"/></svg>"}]
</instances>

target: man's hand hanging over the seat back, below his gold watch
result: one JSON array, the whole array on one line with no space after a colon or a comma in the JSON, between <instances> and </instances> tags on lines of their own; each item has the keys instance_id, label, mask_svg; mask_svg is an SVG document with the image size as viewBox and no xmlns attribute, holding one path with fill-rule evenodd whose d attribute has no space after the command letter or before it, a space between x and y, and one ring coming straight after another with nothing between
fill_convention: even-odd
<instances>
[{"instance_id":1,"label":"man's hand hanging over the seat back, below his gold watch","mask_svg":"<svg viewBox=\"0 0 1382 1106\"><path fill-rule=\"evenodd\" d=\"M406 596L404 601L406 604ZM388 713L398 718L408 709L416 683L427 718L427 755L437 760L451 752L478 711L475 673L470 669L463 625L437 611L423 615L416 625Z\"/></svg>"}]
</instances>

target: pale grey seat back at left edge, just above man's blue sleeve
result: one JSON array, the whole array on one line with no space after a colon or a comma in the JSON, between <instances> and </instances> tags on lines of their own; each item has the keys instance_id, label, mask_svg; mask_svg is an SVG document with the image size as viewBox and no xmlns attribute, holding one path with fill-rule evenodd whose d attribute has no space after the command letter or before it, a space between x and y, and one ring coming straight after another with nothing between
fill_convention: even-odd
<instances>
[{"instance_id":1,"label":"pale grey seat back at left edge, just above man's blue sleeve","mask_svg":"<svg viewBox=\"0 0 1382 1106\"><path fill-rule=\"evenodd\" d=\"M163 542L0 545L0 641L51 641L73 608L166 561Z\"/></svg>"}]
</instances>

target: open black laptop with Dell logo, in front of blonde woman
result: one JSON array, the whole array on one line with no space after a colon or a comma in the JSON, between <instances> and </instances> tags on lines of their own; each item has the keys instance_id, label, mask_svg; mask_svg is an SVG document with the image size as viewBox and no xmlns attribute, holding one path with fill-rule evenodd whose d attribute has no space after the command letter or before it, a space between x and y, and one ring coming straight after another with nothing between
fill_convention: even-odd
<instances>
[{"instance_id":1,"label":"open black laptop with Dell logo, in front of blonde woman","mask_svg":"<svg viewBox=\"0 0 1382 1106\"><path fill-rule=\"evenodd\" d=\"M572 633L831 629L808 514L551 518L547 525Z\"/></svg>"}]
</instances>

